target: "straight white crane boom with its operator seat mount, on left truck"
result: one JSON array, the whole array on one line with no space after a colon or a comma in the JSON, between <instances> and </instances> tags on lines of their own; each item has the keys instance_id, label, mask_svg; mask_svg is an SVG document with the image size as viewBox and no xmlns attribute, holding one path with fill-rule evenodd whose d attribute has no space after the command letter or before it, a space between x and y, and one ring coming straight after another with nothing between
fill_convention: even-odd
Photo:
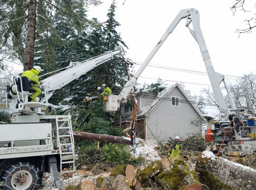
<instances>
[{"instance_id":1,"label":"straight white crane boom with its operator seat mount, on left truck","mask_svg":"<svg viewBox=\"0 0 256 190\"><path fill-rule=\"evenodd\" d=\"M27 90L23 90L23 88L25 87L24 83L22 82L23 80L21 79L21 77L16 77L14 79L15 84L13 84L11 88L7 87L6 107L8 101L7 99L12 99L12 101L10 102L10 113L13 113L13 115L42 115L43 113L41 112L41 107L51 106L48 103L48 100L52 97L55 90L62 88L63 86L67 85L75 79L78 79L82 74L87 73L88 71L99 66L100 64L111 60L114 55L120 54L121 56L122 51L122 48L118 47L114 51L109 51L89 60L74 62L72 63L73 65L68 69L42 80L40 88L42 89L43 98L41 98L41 100L37 102L28 101L28 97L32 93ZM16 81L21 82L17 83ZM21 88L21 90L18 90L19 88ZM14 89L16 92L10 89Z\"/></svg>"}]
</instances>

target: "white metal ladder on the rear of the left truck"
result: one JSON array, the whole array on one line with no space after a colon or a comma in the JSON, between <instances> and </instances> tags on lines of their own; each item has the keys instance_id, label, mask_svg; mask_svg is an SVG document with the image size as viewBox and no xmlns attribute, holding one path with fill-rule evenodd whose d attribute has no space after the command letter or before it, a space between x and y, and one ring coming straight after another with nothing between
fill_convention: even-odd
<instances>
[{"instance_id":1,"label":"white metal ladder on the rear of the left truck","mask_svg":"<svg viewBox=\"0 0 256 190\"><path fill-rule=\"evenodd\" d=\"M70 115L56 116L56 136L60 151L60 172L75 172L74 137ZM67 170L63 170L64 168Z\"/></svg>"}]
</instances>

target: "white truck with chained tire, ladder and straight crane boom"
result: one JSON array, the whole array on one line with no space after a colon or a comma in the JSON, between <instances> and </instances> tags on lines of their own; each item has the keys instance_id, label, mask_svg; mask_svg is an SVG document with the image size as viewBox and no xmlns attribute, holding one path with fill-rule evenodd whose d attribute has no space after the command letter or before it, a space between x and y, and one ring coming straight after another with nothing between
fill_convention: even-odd
<instances>
[{"instance_id":1,"label":"white truck with chained tire, ladder and straight crane boom","mask_svg":"<svg viewBox=\"0 0 256 190\"><path fill-rule=\"evenodd\" d=\"M5 189L36 189L45 170L51 173L53 185L61 188L59 170L75 171L71 116L45 115L41 108L52 106L48 100L55 90L121 53L122 48L118 48L74 62L42 80L42 96L36 102L28 101L34 91L26 77L15 77L7 86L6 107L9 101L15 122L0 125L0 183Z\"/></svg>"}]
</instances>

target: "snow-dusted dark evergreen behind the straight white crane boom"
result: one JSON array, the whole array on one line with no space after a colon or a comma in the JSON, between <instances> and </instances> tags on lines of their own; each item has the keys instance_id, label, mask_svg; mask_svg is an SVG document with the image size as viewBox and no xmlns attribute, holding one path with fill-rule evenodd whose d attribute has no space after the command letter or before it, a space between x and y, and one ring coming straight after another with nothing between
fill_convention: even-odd
<instances>
[{"instance_id":1,"label":"snow-dusted dark evergreen behind the straight white crane boom","mask_svg":"<svg viewBox=\"0 0 256 190\"><path fill-rule=\"evenodd\" d=\"M73 40L72 43L75 44L73 50L76 52L83 50L88 55L97 56L107 51L115 50L120 44L127 48L120 35L116 32L116 27L120 24L114 18L115 8L115 1L113 1L107 14L108 20L103 24L94 18L92 20L94 24L86 31L83 31L83 35ZM65 87L65 91L69 91L70 96L72 96L69 103L78 103L78 100L81 101L85 98L87 93L95 95L97 87L101 87L103 83L107 84L113 93L119 93L125 83L125 74L124 63L118 58L103 63Z\"/></svg>"}]
</instances>

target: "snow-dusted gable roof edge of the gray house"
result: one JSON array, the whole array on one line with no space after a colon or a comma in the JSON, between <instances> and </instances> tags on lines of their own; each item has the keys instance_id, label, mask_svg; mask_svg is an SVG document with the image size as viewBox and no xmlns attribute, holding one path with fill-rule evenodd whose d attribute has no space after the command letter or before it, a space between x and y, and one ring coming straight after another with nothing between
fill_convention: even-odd
<instances>
[{"instance_id":1,"label":"snow-dusted gable roof edge of the gray house","mask_svg":"<svg viewBox=\"0 0 256 190\"><path fill-rule=\"evenodd\" d=\"M160 93L157 94L157 97L155 98L155 100L151 101L149 105L144 106L143 108L140 109L139 113L138 113L138 117L139 116L145 116L150 110L154 109L156 107L156 105L158 105L158 103L160 101L162 101L168 93L170 93L175 87L177 87L182 93L183 95L186 97L186 99L188 101L190 101L189 97L187 96L187 94L184 92L184 90L179 86L178 83L174 84L173 86L169 86L167 87L165 90L161 91ZM196 112L198 113L198 115L200 115L202 118L204 118L203 114L201 113L200 110L198 110L193 103L191 103L192 107L196 110Z\"/></svg>"}]
</instances>

